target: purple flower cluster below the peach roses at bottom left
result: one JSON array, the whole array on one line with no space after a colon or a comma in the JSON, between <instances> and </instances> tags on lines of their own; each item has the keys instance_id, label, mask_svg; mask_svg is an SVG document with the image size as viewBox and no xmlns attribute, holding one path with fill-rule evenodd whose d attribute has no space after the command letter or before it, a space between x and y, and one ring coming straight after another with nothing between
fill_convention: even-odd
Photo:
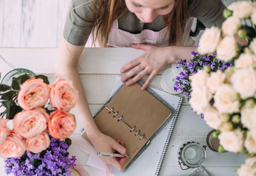
<instances>
[{"instance_id":1,"label":"purple flower cluster below the peach roses at bottom left","mask_svg":"<svg viewBox=\"0 0 256 176\"><path fill-rule=\"evenodd\" d=\"M6 159L5 172L14 175L71 175L69 167L76 166L76 156L68 157L70 142L49 137L50 146L39 154L26 152L20 158Z\"/></svg>"}]
</instances>

